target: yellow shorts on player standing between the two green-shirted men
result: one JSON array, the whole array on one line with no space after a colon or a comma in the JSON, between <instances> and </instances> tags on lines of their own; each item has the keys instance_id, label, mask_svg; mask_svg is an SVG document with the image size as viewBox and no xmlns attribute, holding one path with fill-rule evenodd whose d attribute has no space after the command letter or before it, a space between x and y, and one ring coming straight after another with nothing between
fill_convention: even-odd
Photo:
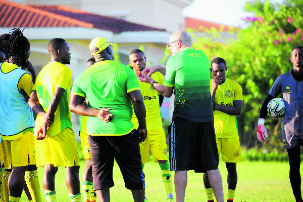
<instances>
[{"instance_id":1,"label":"yellow shorts on player standing between the two green-shirted men","mask_svg":"<svg viewBox=\"0 0 303 202\"><path fill-rule=\"evenodd\" d=\"M163 128L147 131L146 140L140 143L142 164L149 162L149 148L155 162L158 162L158 160L168 160Z\"/></svg>"}]
</instances>

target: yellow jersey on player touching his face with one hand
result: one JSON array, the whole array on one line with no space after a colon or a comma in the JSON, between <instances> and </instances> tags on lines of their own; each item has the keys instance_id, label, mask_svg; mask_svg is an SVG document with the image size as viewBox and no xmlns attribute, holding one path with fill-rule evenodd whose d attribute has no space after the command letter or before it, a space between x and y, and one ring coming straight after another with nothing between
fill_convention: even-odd
<instances>
[{"instance_id":1,"label":"yellow jersey on player touching his face with one hand","mask_svg":"<svg viewBox=\"0 0 303 202\"><path fill-rule=\"evenodd\" d=\"M211 88L212 89L212 80ZM215 102L224 106L233 106L235 100L243 100L241 86L226 78L225 82L216 90ZM238 135L237 119L219 110L214 111L216 138L232 138Z\"/></svg>"}]
</instances>

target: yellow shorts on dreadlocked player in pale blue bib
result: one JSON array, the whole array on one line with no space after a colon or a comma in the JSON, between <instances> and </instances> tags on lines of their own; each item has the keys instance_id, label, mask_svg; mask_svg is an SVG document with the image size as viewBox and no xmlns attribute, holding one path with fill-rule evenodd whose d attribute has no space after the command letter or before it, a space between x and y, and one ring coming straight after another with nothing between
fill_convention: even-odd
<instances>
[{"instance_id":1,"label":"yellow shorts on dreadlocked player in pale blue bib","mask_svg":"<svg viewBox=\"0 0 303 202\"><path fill-rule=\"evenodd\" d=\"M5 169L36 164L35 137L31 131L16 140L2 140L2 151Z\"/></svg>"}]
</instances>

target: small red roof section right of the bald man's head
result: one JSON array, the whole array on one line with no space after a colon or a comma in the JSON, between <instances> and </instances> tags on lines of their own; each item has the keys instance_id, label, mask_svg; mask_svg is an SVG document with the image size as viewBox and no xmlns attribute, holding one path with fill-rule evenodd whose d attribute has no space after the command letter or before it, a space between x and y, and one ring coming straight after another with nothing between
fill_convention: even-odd
<instances>
[{"instance_id":1,"label":"small red roof section right of the bald man's head","mask_svg":"<svg viewBox=\"0 0 303 202\"><path fill-rule=\"evenodd\" d=\"M206 29L211 29L214 27L217 31L220 31L221 26L223 26L222 31L230 31L231 29L234 29L234 27L231 26L226 26L214 22L209 22L209 21L204 21L204 20L199 20L195 18L185 18L185 27L186 28L192 28L195 29L196 31L205 31L204 29L201 29L201 27L206 28Z\"/></svg>"}]
</instances>

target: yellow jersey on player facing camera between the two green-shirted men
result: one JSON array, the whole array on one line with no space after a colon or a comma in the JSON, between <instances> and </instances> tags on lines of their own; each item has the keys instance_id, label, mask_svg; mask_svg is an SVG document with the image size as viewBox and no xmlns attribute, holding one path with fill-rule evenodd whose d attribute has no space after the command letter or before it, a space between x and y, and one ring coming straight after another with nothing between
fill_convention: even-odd
<instances>
[{"instance_id":1,"label":"yellow jersey on player facing camera between the two green-shirted men","mask_svg":"<svg viewBox=\"0 0 303 202\"><path fill-rule=\"evenodd\" d=\"M163 75L159 72L151 74L151 78L156 80L160 85L163 85L164 78ZM162 128L162 117L160 113L159 105L159 93L155 89L150 89L150 84L140 82L138 78L138 83L140 86L141 95L143 97L145 110L146 110L146 129L159 129ZM132 123L137 129L139 127L138 119L136 114L133 111L133 116L131 119Z\"/></svg>"}]
</instances>

